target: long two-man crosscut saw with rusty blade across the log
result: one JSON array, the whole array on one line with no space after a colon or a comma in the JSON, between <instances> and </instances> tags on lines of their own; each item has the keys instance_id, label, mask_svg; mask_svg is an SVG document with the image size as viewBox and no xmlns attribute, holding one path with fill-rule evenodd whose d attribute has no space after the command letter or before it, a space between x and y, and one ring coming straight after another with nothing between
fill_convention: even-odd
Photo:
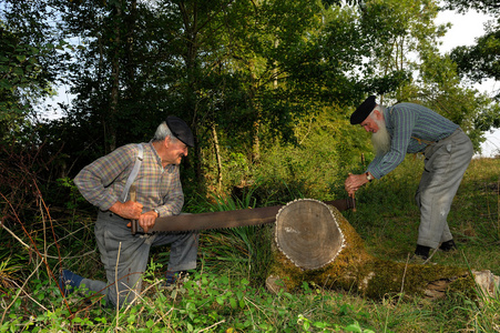
<instances>
[{"instance_id":1,"label":"long two-man crosscut saw with rusty blade across the log","mask_svg":"<svg viewBox=\"0 0 500 333\"><path fill-rule=\"evenodd\" d=\"M339 211L356 209L356 201L350 196L347 199L325 201L325 204L333 205ZM150 229L147 233L201 231L274 223L276 221L276 214L282 208L283 205L274 205L237 211L157 218L154 222L154 226ZM132 221L131 231L132 234L144 233L143 229L139 225L137 220Z\"/></svg>"}]
</instances>

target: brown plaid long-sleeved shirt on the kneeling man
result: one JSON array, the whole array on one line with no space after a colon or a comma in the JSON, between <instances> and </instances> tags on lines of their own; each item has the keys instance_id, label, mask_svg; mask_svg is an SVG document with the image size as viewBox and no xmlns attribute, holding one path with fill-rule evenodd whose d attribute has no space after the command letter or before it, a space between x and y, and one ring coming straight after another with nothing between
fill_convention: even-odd
<instances>
[{"instance_id":1,"label":"brown plaid long-sleeved shirt on the kneeling man","mask_svg":"<svg viewBox=\"0 0 500 333\"><path fill-rule=\"evenodd\" d=\"M160 212L160 216L181 213L184 194L178 165L169 164L163 168L153 144L141 144L144 159L133 185L136 190L136 201L144 206L143 213L153 209ZM108 211L122 196L136 157L136 144L120 147L83 168L75 176L74 183L90 203ZM130 200L130 194L126 200Z\"/></svg>"}]
</instances>

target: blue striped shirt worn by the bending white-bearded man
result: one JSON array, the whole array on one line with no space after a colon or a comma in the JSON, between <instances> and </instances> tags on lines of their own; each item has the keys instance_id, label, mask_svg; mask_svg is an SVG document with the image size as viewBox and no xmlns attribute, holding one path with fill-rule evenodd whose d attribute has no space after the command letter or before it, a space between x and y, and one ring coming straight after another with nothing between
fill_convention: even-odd
<instances>
[{"instance_id":1,"label":"blue striped shirt worn by the bending white-bearded man","mask_svg":"<svg viewBox=\"0 0 500 333\"><path fill-rule=\"evenodd\" d=\"M395 170L407 153L422 152L429 142L445 139L459 128L435 111L414 103L384 109L384 119L391 143L386 154L377 155L368 165L367 171L376 179Z\"/></svg>"}]
</instances>

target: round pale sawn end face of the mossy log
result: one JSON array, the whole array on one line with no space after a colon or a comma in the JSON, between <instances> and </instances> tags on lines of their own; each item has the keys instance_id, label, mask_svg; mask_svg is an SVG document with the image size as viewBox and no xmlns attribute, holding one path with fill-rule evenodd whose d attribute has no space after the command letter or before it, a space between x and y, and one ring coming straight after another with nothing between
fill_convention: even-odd
<instances>
[{"instance_id":1,"label":"round pale sawn end face of the mossy log","mask_svg":"<svg viewBox=\"0 0 500 333\"><path fill-rule=\"evenodd\" d=\"M335 260L344 235L330 208L313 199L296 200L276 215L276 243L295 265L316 270Z\"/></svg>"}]
</instances>

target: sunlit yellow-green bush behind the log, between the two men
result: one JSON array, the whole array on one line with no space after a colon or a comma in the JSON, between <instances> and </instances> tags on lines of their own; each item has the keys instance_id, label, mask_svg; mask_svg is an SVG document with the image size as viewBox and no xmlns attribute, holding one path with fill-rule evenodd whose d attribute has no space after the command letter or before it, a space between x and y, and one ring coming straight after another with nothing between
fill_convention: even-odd
<instances>
[{"instance_id":1,"label":"sunlit yellow-green bush behind the log, between the two men","mask_svg":"<svg viewBox=\"0 0 500 333\"><path fill-rule=\"evenodd\" d=\"M279 203L297 198L329 199L343 188L351 165L366 150L366 135L336 109L325 109L297 121L297 144L275 144L266 150L254 174L261 180L259 198ZM347 139L349 138L349 139ZM365 165L366 167L366 165ZM343 194L344 195L344 194Z\"/></svg>"}]
</instances>

